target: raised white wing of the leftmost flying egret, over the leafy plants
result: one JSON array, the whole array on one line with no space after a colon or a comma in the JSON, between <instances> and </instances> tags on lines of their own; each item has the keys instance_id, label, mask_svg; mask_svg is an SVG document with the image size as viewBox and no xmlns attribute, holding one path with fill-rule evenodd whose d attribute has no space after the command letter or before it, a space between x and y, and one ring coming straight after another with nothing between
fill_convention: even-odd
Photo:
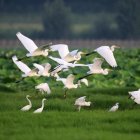
<instances>
[{"instance_id":1,"label":"raised white wing of the leftmost flying egret, over the leafy plants","mask_svg":"<svg viewBox=\"0 0 140 140\"><path fill-rule=\"evenodd\" d=\"M31 71L31 69L25 63L18 61L16 56L13 56L12 60L22 72L28 73Z\"/></svg>"}]
</instances>

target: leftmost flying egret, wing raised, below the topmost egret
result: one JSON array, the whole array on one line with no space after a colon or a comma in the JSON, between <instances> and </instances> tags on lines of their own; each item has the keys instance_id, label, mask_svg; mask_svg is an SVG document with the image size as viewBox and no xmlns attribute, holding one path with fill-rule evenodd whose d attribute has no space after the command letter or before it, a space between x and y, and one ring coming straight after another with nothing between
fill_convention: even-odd
<instances>
[{"instance_id":1,"label":"leftmost flying egret, wing raised, below the topmost egret","mask_svg":"<svg viewBox=\"0 0 140 140\"><path fill-rule=\"evenodd\" d=\"M13 56L12 60L17 65L17 67L24 73L22 74L22 77L38 76L37 69L31 70L25 63L19 61L16 56Z\"/></svg>"}]
</instances>

